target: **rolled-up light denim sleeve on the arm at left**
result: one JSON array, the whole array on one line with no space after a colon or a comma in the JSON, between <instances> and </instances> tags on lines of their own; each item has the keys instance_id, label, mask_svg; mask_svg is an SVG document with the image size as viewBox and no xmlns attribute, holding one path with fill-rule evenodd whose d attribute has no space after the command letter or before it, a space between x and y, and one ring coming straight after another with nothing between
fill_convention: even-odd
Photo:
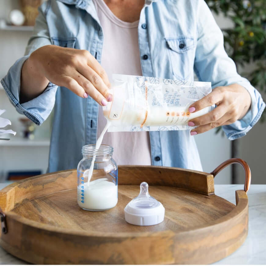
<instances>
[{"instance_id":1,"label":"rolled-up light denim sleeve on the arm at left","mask_svg":"<svg viewBox=\"0 0 266 266\"><path fill-rule=\"evenodd\" d=\"M39 15L36 19L33 35L31 36L25 56L18 59L9 69L7 75L1 80L10 102L16 110L27 116L35 124L40 125L51 113L54 103L57 86L49 83L46 89L38 97L31 101L20 103L20 76L24 62L30 54L41 46L51 44L49 29L46 23L46 14L49 9L49 1L39 7Z\"/></svg>"}]
</instances>

